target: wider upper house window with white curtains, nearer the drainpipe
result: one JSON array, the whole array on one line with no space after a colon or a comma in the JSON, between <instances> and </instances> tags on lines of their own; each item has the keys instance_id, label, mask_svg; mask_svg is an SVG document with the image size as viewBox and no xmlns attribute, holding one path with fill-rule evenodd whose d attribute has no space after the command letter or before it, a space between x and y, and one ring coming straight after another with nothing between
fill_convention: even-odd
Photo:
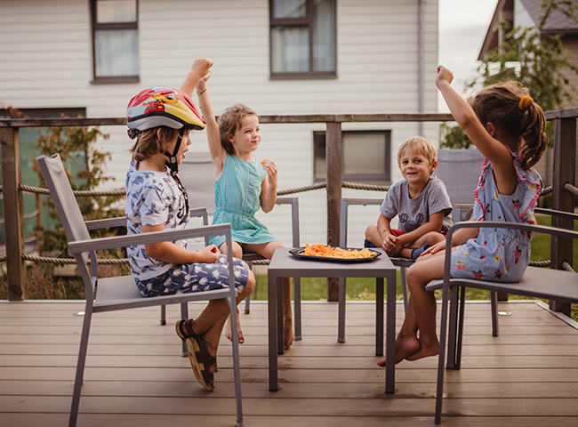
<instances>
[{"instance_id":1,"label":"wider upper house window with white curtains, nearer the drainpipe","mask_svg":"<svg viewBox=\"0 0 578 427\"><path fill-rule=\"evenodd\" d=\"M271 78L335 77L335 0L269 0Z\"/></svg>"}]
</instances>

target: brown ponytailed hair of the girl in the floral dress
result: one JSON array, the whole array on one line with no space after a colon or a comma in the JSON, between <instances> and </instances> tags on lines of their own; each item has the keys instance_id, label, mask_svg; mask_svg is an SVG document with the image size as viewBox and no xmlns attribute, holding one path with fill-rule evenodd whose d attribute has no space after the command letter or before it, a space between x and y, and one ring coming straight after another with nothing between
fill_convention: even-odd
<instances>
[{"instance_id":1,"label":"brown ponytailed hair of the girl in the floral dress","mask_svg":"<svg viewBox=\"0 0 578 427\"><path fill-rule=\"evenodd\" d=\"M522 168L526 170L538 163L548 147L546 117L529 94L526 87L510 81L487 86L469 101L482 125L492 123L518 138Z\"/></svg>"}]
</instances>

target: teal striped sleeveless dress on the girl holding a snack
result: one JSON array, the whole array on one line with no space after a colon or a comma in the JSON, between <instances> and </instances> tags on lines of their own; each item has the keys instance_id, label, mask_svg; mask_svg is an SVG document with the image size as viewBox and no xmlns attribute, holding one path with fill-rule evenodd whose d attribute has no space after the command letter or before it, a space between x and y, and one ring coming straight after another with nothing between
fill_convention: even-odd
<instances>
[{"instance_id":1,"label":"teal striped sleeveless dress on the girl holding a snack","mask_svg":"<svg viewBox=\"0 0 578 427\"><path fill-rule=\"evenodd\" d=\"M231 236L238 243L261 244L276 241L267 227L255 218L261 209L261 182L267 171L257 161L225 157L223 172L215 181L213 225L229 222ZM224 236L213 236L211 244L221 246Z\"/></svg>"}]
</instances>

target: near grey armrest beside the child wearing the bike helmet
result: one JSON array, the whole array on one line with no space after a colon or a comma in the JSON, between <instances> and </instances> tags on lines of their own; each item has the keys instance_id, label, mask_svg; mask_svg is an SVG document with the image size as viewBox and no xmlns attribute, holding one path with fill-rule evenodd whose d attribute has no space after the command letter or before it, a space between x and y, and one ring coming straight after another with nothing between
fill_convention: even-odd
<instances>
[{"instance_id":1,"label":"near grey armrest beside the child wearing the bike helmet","mask_svg":"<svg viewBox=\"0 0 578 427\"><path fill-rule=\"evenodd\" d=\"M113 247L127 247L136 245L146 245L149 243L159 243L186 238L202 238L205 236L217 236L221 234L230 234L231 226L229 223L209 225L196 229L184 230L164 230L152 233L135 234L132 236L113 236L109 238L93 238L90 240L78 240L68 243L68 252L70 254L80 254L83 252L98 251L101 249L110 249Z\"/></svg>"}]
</instances>

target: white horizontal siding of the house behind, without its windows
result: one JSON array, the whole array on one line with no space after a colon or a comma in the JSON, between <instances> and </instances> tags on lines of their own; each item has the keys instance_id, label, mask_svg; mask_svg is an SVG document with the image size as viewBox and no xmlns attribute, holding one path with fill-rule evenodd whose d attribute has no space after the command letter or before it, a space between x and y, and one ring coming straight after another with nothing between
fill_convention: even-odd
<instances>
[{"instance_id":1,"label":"white horizontal siding of the house behind, without its windows","mask_svg":"<svg viewBox=\"0 0 578 427\"><path fill-rule=\"evenodd\" d=\"M139 0L140 83L92 84L87 0L0 0L0 102L15 108L84 107L88 117L124 117L128 100L155 85L181 85L194 58L214 60L209 93L217 114L243 102L261 115L413 113L418 111L418 0L337 0L337 78L269 79L267 0ZM438 1L424 2L424 111L437 111ZM344 130L391 130L392 181L401 178L397 148L416 123L344 124ZM112 153L108 187L122 187L131 142L124 126L103 126ZM278 189L313 183L313 131L323 124L261 125L255 156L279 167ZM424 136L438 143L438 124ZM192 151L206 150L205 133ZM367 153L371 156L371 153ZM343 189L343 197L383 192ZM301 243L326 243L325 190L297 195ZM291 245L289 212L277 206L260 219ZM360 211L364 211L360 208ZM366 212L365 212L366 211ZM377 219L376 206L352 208L350 245Z\"/></svg>"}]
</instances>

